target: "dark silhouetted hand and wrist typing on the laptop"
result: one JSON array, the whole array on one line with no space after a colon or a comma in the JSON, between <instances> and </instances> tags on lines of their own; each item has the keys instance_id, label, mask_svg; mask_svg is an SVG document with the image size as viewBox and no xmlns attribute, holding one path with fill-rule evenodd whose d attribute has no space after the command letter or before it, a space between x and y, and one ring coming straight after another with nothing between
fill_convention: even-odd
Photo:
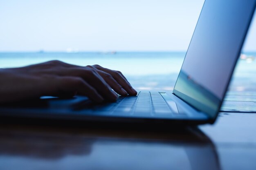
<instances>
[{"instance_id":1,"label":"dark silhouetted hand and wrist typing on the laptop","mask_svg":"<svg viewBox=\"0 0 256 170\"><path fill-rule=\"evenodd\" d=\"M137 94L120 71L99 65L76 66L56 60L0 69L0 81L0 103L41 96L72 97L76 94L85 95L94 102L103 102L115 101L116 93Z\"/></svg>"}]
</instances>

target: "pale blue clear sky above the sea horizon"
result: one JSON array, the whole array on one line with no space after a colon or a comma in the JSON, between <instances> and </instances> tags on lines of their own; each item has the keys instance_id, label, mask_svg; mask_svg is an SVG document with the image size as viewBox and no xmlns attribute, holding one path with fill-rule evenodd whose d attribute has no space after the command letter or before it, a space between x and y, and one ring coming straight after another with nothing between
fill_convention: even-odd
<instances>
[{"instance_id":1,"label":"pale blue clear sky above the sea horizon","mask_svg":"<svg viewBox=\"0 0 256 170\"><path fill-rule=\"evenodd\" d=\"M186 51L203 3L1 0L0 51ZM244 51L256 51L250 30Z\"/></svg>"}]
</instances>

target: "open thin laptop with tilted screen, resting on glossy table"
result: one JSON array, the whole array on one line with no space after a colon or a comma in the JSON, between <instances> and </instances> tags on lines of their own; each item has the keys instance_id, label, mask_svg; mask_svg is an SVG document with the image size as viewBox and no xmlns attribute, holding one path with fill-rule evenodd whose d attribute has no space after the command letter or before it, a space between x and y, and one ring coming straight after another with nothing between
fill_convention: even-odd
<instances>
[{"instance_id":1,"label":"open thin laptop with tilted screen, resting on glossy table","mask_svg":"<svg viewBox=\"0 0 256 170\"><path fill-rule=\"evenodd\" d=\"M13 121L56 120L150 126L213 124L249 29L256 0L205 0L173 92L141 91L115 103L42 97L0 107ZM155 127L155 126L154 126Z\"/></svg>"}]
</instances>

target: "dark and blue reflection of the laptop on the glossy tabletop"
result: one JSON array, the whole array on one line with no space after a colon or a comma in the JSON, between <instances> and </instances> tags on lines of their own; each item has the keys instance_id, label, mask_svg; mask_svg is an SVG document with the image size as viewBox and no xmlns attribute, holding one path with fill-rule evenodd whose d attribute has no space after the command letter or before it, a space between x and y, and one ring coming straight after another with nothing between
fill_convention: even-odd
<instances>
[{"instance_id":1,"label":"dark and blue reflection of the laptop on the glossy tabletop","mask_svg":"<svg viewBox=\"0 0 256 170\"><path fill-rule=\"evenodd\" d=\"M137 131L1 126L0 169L219 170L211 140L197 128Z\"/></svg>"}]
</instances>

